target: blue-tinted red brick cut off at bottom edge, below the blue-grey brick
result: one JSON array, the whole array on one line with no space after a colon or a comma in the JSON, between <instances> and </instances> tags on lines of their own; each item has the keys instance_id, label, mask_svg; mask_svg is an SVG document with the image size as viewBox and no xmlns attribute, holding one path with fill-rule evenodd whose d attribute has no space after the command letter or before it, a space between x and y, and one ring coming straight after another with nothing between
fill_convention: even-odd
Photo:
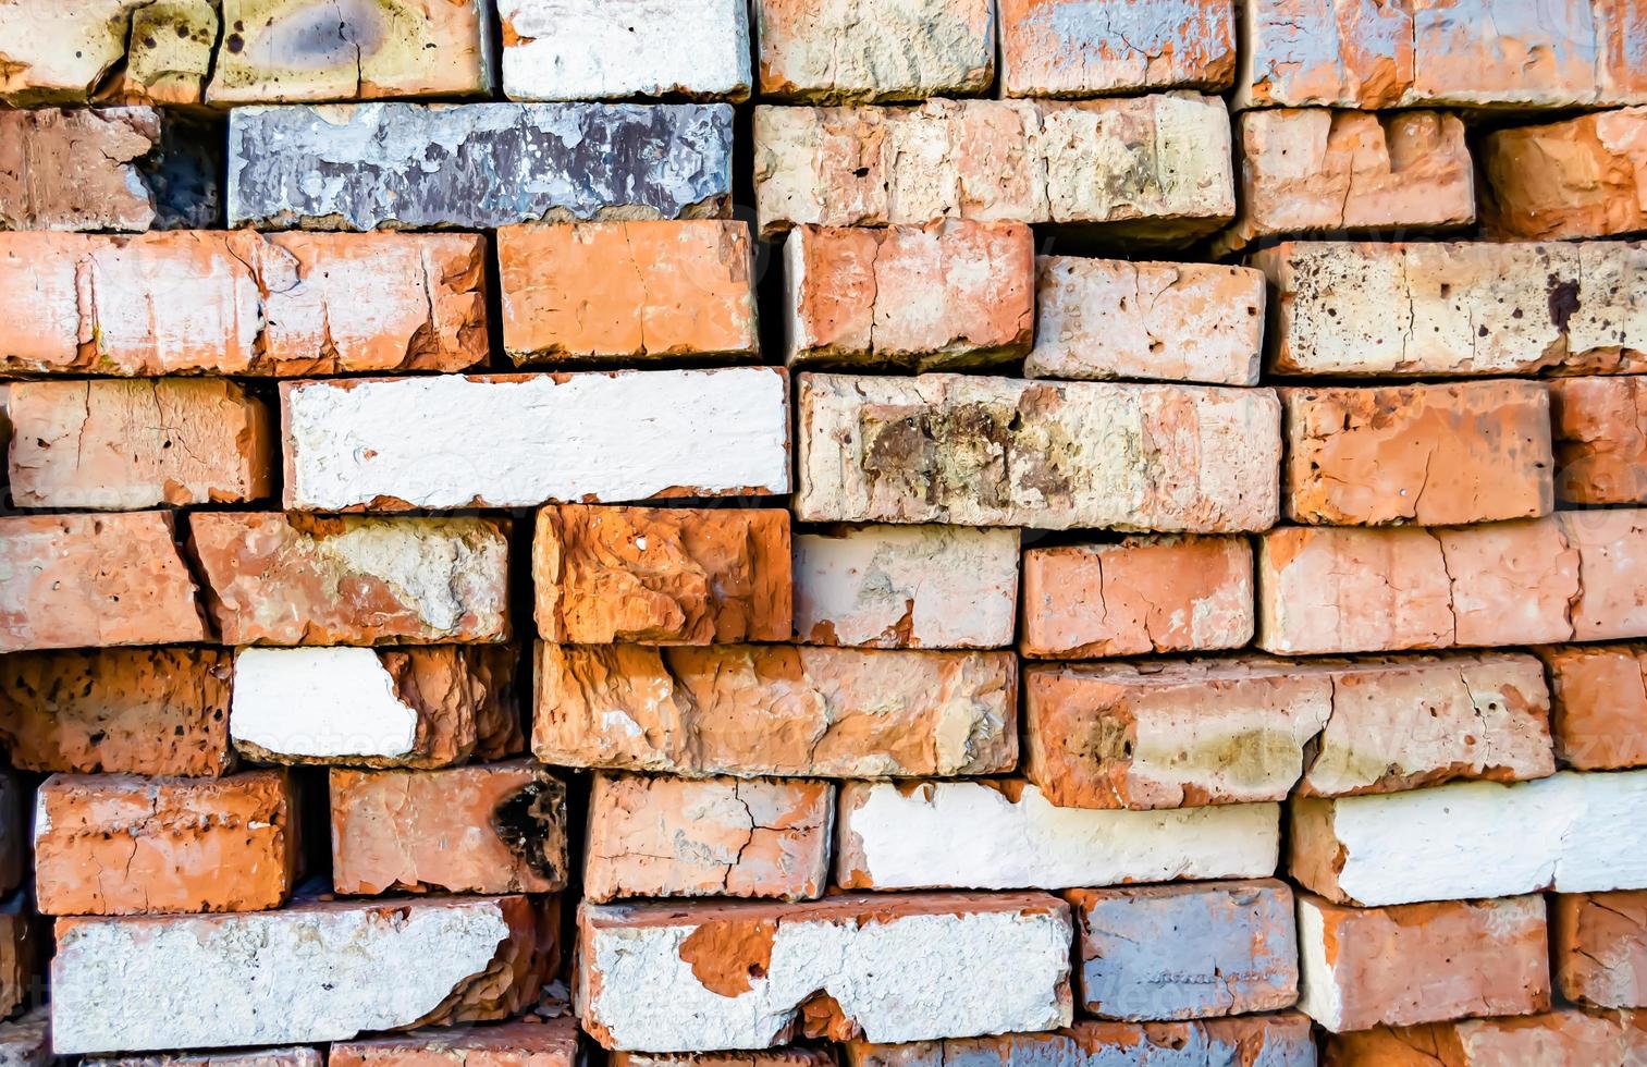
<instances>
[{"instance_id":1,"label":"blue-tinted red brick cut off at bottom edge, below the blue-grey brick","mask_svg":"<svg viewBox=\"0 0 1647 1067\"><path fill-rule=\"evenodd\" d=\"M1036 1034L950 1037L875 1046L848 1041L850 1067L942 1067L1054 1062L1071 1067L1150 1067L1173 1062L1303 1067L1314 1064L1309 1019L1298 1013L1194 1023L1075 1023Z\"/></svg>"}]
</instances>

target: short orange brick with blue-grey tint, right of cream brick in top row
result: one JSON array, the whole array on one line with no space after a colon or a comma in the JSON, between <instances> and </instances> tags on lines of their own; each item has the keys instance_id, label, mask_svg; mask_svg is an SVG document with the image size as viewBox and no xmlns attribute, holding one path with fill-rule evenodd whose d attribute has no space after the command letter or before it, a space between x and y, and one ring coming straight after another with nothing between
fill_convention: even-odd
<instances>
[{"instance_id":1,"label":"short orange brick with blue-grey tint, right of cream brick in top row","mask_svg":"<svg viewBox=\"0 0 1647 1067\"><path fill-rule=\"evenodd\" d=\"M1085 97L1141 89L1222 92L1235 76L1234 0L1001 0L1001 91Z\"/></svg>"}]
</instances>

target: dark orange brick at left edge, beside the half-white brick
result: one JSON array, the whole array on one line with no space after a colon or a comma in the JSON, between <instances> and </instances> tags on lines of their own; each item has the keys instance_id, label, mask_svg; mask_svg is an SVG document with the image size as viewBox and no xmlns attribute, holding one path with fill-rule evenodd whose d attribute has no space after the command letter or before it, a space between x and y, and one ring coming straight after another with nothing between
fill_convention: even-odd
<instances>
[{"instance_id":1,"label":"dark orange brick at left edge, beside the half-white brick","mask_svg":"<svg viewBox=\"0 0 1647 1067\"><path fill-rule=\"evenodd\" d=\"M0 748L25 771L227 774L231 664L199 647L7 655Z\"/></svg>"}]
</instances>

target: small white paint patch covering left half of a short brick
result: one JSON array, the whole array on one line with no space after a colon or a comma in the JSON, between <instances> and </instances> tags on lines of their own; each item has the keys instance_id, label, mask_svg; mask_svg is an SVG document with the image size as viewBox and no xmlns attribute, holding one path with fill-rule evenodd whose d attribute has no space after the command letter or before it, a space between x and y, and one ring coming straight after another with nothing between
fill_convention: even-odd
<instances>
[{"instance_id":1,"label":"small white paint patch covering left half of a short brick","mask_svg":"<svg viewBox=\"0 0 1647 1067\"><path fill-rule=\"evenodd\" d=\"M229 738L282 756L407 756L417 710L372 649L242 649L234 657Z\"/></svg>"}]
</instances>

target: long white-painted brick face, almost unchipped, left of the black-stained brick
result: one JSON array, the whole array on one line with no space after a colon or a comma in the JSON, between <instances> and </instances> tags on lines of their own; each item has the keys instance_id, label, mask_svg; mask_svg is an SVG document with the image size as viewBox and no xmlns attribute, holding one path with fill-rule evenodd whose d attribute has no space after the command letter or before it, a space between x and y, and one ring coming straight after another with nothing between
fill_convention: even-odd
<instances>
[{"instance_id":1,"label":"long white-painted brick face, almost unchipped, left of the black-stained brick","mask_svg":"<svg viewBox=\"0 0 1647 1067\"><path fill-rule=\"evenodd\" d=\"M789 491L764 367L298 382L287 507L520 507Z\"/></svg>"}]
</instances>

